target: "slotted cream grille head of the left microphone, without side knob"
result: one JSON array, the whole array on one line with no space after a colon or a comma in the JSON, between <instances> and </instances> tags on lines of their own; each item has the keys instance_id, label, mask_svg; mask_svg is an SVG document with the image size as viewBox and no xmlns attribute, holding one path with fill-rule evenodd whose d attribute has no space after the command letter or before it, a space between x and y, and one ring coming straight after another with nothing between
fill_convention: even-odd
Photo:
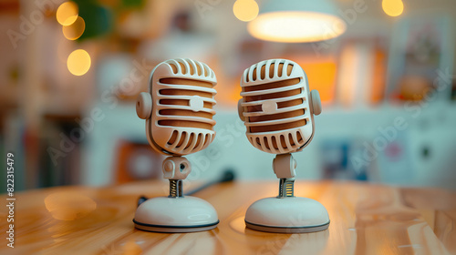
<instances>
[{"instance_id":1,"label":"slotted cream grille head of the left microphone, without side knob","mask_svg":"<svg viewBox=\"0 0 456 255\"><path fill-rule=\"evenodd\" d=\"M171 59L156 67L150 83L152 138L162 150L186 155L209 146L215 137L216 83L212 69L192 59Z\"/></svg>"}]
</instances>

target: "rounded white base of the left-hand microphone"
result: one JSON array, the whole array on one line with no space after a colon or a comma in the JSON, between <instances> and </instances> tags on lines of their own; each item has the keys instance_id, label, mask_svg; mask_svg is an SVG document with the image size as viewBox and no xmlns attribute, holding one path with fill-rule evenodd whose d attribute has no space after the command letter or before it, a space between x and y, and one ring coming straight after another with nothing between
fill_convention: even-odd
<instances>
[{"instance_id":1,"label":"rounded white base of the left-hand microphone","mask_svg":"<svg viewBox=\"0 0 456 255\"><path fill-rule=\"evenodd\" d=\"M186 233L212 230L219 220L209 202L187 196L148 199L136 209L133 222L139 230Z\"/></svg>"}]
</instances>

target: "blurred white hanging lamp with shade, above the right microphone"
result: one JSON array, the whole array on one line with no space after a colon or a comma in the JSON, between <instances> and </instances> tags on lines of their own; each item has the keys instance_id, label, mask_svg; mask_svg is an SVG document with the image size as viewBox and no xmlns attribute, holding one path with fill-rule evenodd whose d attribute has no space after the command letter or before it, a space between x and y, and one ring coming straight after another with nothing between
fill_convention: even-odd
<instances>
[{"instance_id":1,"label":"blurred white hanging lamp with shade, above the right microphone","mask_svg":"<svg viewBox=\"0 0 456 255\"><path fill-rule=\"evenodd\" d=\"M265 3L247 30L265 41L307 43L340 36L347 26L328 0L287 0Z\"/></svg>"}]
</instances>

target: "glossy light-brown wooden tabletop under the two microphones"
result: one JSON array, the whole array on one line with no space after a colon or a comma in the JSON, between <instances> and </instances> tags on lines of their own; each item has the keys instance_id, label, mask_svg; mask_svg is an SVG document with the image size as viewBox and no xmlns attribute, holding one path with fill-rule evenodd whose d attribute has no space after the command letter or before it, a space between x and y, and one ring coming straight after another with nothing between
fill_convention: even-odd
<instances>
[{"instance_id":1,"label":"glossy light-brown wooden tabletop under the two microphones","mask_svg":"<svg viewBox=\"0 0 456 255\"><path fill-rule=\"evenodd\" d=\"M198 186L195 183L187 186ZM189 190L192 187L185 187ZM277 182L234 182L195 194L217 209L218 228L165 234L133 228L136 200L165 195L163 181L16 193L15 248L1 254L455 254L456 194L358 182L296 181L295 196L325 205L329 229L274 234L245 229L244 213ZM2 196L5 201L6 197ZM5 206L3 206L5 208ZM2 237L6 211L1 210Z\"/></svg>"}]
</instances>

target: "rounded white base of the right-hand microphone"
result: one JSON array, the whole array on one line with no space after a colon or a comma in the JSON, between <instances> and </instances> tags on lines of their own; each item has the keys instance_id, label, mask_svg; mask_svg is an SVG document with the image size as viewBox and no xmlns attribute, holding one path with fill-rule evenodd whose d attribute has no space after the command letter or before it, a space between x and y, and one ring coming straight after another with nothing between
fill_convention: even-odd
<instances>
[{"instance_id":1,"label":"rounded white base of the right-hand microphone","mask_svg":"<svg viewBox=\"0 0 456 255\"><path fill-rule=\"evenodd\" d=\"M326 230L329 217L325 207L314 199L266 198L247 209L245 225L264 232L309 233Z\"/></svg>"}]
</instances>

